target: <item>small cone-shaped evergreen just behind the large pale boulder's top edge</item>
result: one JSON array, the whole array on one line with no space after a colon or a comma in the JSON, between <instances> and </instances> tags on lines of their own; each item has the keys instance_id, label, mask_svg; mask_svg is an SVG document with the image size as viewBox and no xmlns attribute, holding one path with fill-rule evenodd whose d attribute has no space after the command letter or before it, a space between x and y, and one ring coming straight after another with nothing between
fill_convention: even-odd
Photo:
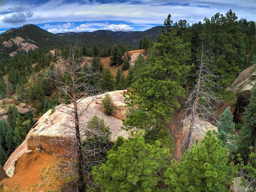
<instances>
[{"instance_id":1,"label":"small cone-shaped evergreen just behind the large pale boulder's top edge","mask_svg":"<svg viewBox=\"0 0 256 192\"><path fill-rule=\"evenodd\" d=\"M104 91L115 90L116 81L114 79L114 74L110 72L109 68L104 69L102 72L102 79L100 81L100 87Z\"/></svg>"}]
</instances>

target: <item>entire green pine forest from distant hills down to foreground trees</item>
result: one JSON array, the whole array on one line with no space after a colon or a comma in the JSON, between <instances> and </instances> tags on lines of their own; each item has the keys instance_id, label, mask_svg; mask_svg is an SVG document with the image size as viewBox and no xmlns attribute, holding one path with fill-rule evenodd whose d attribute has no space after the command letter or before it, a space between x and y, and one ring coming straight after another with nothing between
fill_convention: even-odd
<instances>
[{"instance_id":1,"label":"entire green pine forest from distant hills down to foreground trees","mask_svg":"<svg viewBox=\"0 0 256 192\"><path fill-rule=\"evenodd\" d=\"M20 145L37 118L54 106L75 106L81 95L93 95L94 89L128 89L124 126L143 130L143 134L119 138L112 149L97 156L100 164L89 166L90 159L83 158L86 155L76 154L86 170L84 174L78 167L73 178L80 192L224 192L236 176L244 178L246 187L255 187L256 86L244 122L234 124L229 108L219 117L216 108L235 101L234 93L226 88L242 70L256 64L256 23L238 20L229 10L192 25L186 20L174 23L168 15L160 34L159 30L55 35L26 25L1 34L0 100L8 118L0 120L0 164ZM8 48L3 42L16 36L39 48L9 56L18 46ZM144 49L147 55L140 55L130 66L128 52L135 49ZM105 57L110 57L110 66L104 68L101 59ZM116 74L111 67L118 68ZM76 88L72 88L74 84ZM71 93L79 97L70 98ZM15 99L14 104L8 104L10 98ZM186 99L190 99L184 106L191 118L190 128L178 159L172 128L168 128L180 101ZM21 102L33 110L21 115L16 108ZM74 118L78 122L77 114ZM195 141L191 146L197 119L216 125L218 132L207 132L200 144ZM79 146L89 145L78 135L79 131ZM103 145L101 142L105 140L96 143Z\"/></svg>"}]
</instances>

